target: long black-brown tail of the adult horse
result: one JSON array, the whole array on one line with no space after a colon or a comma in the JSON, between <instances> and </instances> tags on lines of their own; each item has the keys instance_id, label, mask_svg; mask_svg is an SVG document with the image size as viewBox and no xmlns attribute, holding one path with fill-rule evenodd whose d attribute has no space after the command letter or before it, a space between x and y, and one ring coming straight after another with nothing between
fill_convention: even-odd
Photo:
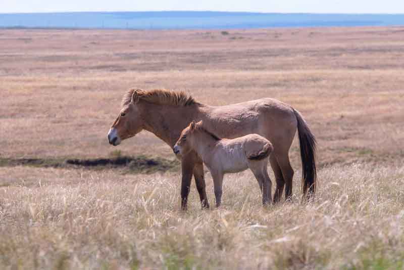
<instances>
[{"instance_id":1,"label":"long black-brown tail of the adult horse","mask_svg":"<svg viewBox=\"0 0 404 270\"><path fill-rule=\"evenodd\" d=\"M297 132L300 144L301 158L301 191L307 196L307 199L316 192L317 186L317 171L316 171L316 138L310 131L305 119L301 114L293 109L297 119Z\"/></svg>"}]
</instances>

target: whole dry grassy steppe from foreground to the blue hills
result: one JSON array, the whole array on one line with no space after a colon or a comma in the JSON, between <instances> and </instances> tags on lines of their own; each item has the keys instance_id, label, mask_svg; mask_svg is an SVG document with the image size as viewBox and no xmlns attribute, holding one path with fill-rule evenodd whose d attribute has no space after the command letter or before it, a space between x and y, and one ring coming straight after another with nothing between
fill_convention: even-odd
<instances>
[{"instance_id":1,"label":"whole dry grassy steppe from foreground to the blue hills","mask_svg":"<svg viewBox=\"0 0 404 270\"><path fill-rule=\"evenodd\" d=\"M0 269L404 268L403 33L0 30ZM108 144L133 87L292 105L319 143L315 202L299 203L296 138L291 202L263 209L245 171L225 177L220 209L200 210L192 184L179 211L167 145Z\"/></svg>"}]
</instances>

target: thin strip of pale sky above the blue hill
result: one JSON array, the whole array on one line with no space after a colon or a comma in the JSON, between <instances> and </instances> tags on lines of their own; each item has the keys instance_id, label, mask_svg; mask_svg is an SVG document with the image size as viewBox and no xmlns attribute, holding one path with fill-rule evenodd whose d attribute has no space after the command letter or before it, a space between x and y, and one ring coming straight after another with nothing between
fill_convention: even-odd
<instances>
[{"instance_id":1,"label":"thin strip of pale sky above the blue hill","mask_svg":"<svg viewBox=\"0 0 404 270\"><path fill-rule=\"evenodd\" d=\"M0 13L69 11L404 13L404 0L0 0Z\"/></svg>"}]
</instances>

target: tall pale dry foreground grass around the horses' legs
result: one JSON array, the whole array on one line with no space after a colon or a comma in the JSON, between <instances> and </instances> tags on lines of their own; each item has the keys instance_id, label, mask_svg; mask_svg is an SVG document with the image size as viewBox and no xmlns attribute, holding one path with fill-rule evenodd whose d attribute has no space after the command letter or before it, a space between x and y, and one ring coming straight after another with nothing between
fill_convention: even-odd
<instances>
[{"instance_id":1,"label":"tall pale dry foreground grass around the horses' legs","mask_svg":"<svg viewBox=\"0 0 404 270\"><path fill-rule=\"evenodd\" d=\"M2 269L400 269L404 259L402 165L325 167L316 202L268 209L251 173L232 174L222 208L200 210L192 189L186 213L177 174L5 174L16 177L0 189Z\"/></svg>"}]
</instances>

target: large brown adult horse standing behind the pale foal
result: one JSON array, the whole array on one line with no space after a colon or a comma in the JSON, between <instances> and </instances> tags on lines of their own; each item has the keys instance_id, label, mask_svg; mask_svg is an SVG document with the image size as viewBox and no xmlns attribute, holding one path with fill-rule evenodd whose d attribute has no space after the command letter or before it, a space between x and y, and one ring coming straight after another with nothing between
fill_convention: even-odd
<instances>
[{"instance_id":1,"label":"large brown adult horse standing behind the pale foal","mask_svg":"<svg viewBox=\"0 0 404 270\"><path fill-rule=\"evenodd\" d=\"M144 129L173 148L181 131L192 120L202 120L207 129L221 138L233 139L250 133L267 138L274 148L270 157L276 181L274 202L279 201L284 188L285 199L292 196L293 169L288 153L297 129L302 163L302 193L307 198L315 193L315 137L300 113L278 100L264 98L214 107L201 104L183 92L132 89L123 97L121 112L108 132L108 141L117 146ZM192 174L201 205L209 208L204 165L200 157L195 152L182 156L181 170L181 208L187 208Z\"/></svg>"}]
</instances>

